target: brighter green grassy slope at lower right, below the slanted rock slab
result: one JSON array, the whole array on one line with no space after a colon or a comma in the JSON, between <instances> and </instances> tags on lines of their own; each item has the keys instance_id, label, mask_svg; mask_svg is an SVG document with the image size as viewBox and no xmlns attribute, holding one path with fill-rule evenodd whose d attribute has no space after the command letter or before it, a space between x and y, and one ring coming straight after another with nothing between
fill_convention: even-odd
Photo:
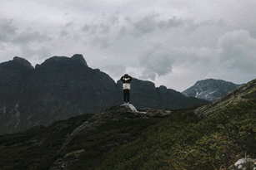
<instances>
[{"instance_id":1,"label":"brighter green grassy slope at lower right, below the slanted rock slab","mask_svg":"<svg viewBox=\"0 0 256 170\"><path fill-rule=\"evenodd\" d=\"M227 169L256 153L256 102L229 106L196 123L179 111L108 155L98 169Z\"/></svg>"}]
</instances>

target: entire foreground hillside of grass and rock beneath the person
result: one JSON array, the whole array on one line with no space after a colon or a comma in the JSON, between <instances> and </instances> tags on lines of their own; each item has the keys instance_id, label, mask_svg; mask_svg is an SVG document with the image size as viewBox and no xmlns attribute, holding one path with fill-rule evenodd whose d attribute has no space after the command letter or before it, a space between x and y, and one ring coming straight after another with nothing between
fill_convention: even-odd
<instances>
[{"instance_id":1,"label":"entire foreground hillside of grass and rock beneath the person","mask_svg":"<svg viewBox=\"0 0 256 170\"><path fill-rule=\"evenodd\" d=\"M3 170L253 169L256 80L190 109L113 105L0 135Z\"/></svg>"}]
</instances>

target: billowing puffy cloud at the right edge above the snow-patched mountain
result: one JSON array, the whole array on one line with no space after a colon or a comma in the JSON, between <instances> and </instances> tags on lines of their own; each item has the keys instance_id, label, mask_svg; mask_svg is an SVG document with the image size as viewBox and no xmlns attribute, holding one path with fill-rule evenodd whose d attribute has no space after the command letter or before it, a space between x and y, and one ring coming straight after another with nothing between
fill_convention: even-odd
<instances>
[{"instance_id":1,"label":"billowing puffy cloud at the right edge above the snow-patched mountain","mask_svg":"<svg viewBox=\"0 0 256 170\"><path fill-rule=\"evenodd\" d=\"M248 31L227 32L218 40L219 62L226 69L256 71L256 39Z\"/></svg>"}]
</instances>

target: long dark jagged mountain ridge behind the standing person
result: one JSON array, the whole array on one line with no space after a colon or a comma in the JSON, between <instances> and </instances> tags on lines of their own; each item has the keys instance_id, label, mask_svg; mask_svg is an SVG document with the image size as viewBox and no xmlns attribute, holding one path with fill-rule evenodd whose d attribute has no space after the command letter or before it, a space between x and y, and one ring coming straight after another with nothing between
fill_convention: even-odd
<instances>
[{"instance_id":1,"label":"long dark jagged mountain ridge behind the standing person","mask_svg":"<svg viewBox=\"0 0 256 170\"><path fill-rule=\"evenodd\" d=\"M18 56L3 62L0 91L0 134L123 104L121 81L90 68L79 54L53 56L35 68ZM183 109L208 102L134 78L131 103L137 108Z\"/></svg>"}]
</instances>

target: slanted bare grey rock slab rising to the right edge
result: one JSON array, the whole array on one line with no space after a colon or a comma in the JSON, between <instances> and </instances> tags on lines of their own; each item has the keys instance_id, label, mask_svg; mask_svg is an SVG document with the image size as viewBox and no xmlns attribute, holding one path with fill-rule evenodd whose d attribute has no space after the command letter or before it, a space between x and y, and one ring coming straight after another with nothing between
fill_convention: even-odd
<instances>
[{"instance_id":1,"label":"slanted bare grey rock slab rising to the right edge","mask_svg":"<svg viewBox=\"0 0 256 170\"><path fill-rule=\"evenodd\" d=\"M248 82L246 85L242 85L237 89L228 92L213 101L213 103L203 105L194 110L194 114L198 119L206 119L209 116L218 114L218 112L225 109L230 104L238 104L241 101L253 99L256 96L256 80Z\"/></svg>"}]
</instances>

